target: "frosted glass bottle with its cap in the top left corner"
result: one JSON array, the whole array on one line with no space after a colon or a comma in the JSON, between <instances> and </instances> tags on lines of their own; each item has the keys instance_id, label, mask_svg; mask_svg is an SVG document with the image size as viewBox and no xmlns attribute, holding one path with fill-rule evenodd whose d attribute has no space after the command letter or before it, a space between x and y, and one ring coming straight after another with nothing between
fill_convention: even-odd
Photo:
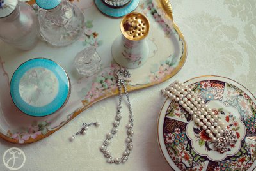
<instances>
[{"instance_id":1,"label":"frosted glass bottle with its cap in the top left corner","mask_svg":"<svg viewBox=\"0 0 256 171\"><path fill-rule=\"evenodd\" d=\"M40 33L35 11L17 0L0 0L0 39L22 50L36 46Z\"/></svg>"}]
</instances>

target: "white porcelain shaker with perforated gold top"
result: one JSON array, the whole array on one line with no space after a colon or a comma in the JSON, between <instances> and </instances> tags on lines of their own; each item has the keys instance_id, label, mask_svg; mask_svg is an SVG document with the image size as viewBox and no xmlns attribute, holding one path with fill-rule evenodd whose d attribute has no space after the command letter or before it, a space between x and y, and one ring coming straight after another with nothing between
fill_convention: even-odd
<instances>
[{"instance_id":1,"label":"white porcelain shaker with perforated gold top","mask_svg":"<svg viewBox=\"0 0 256 171\"><path fill-rule=\"evenodd\" d=\"M141 13L132 12L122 19L120 28L122 35L112 45L112 56L120 66L138 68L147 61L149 54L146 39L149 20Z\"/></svg>"}]
</instances>

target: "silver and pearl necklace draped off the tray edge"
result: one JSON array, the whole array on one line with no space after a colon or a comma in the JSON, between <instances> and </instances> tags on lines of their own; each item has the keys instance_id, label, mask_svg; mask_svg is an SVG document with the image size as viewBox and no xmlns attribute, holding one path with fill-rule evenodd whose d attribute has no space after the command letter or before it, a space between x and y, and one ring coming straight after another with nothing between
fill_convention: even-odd
<instances>
[{"instance_id":1,"label":"silver and pearl necklace draped off the tray edge","mask_svg":"<svg viewBox=\"0 0 256 171\"><path fill-rule=\"evenodd\" d=\"M112 130L107 133L106 136L106 140L104 140L103 145L100 147L100 151L103 152L104 156L106 158L108 158L107 162L108 163L125 163L128 160L128 156L132 150L132 135L133 135L133 114L132 114L132 108L131 108L131 103L130 103L130 99L129 99L129 95L128 95L128 91L127 91L127 87L125 85L125 78L129 78L131 77L131 74L129 73L128 70L124 69L124 70L115 70L115 75L116 78L118 79L118 91L119 91L119 103L118 103L118 107L117 107L117 114L116 114L116 120L113 122L113 128ZM113 138L113 135L115 135L115 133L117 133L118 131L118 126L120 124L120 121L122 119L122 114L121 114L121 108L122 108L122 86L124 87L124 91L125 91L125 96L127 98L127 103L128 103L128 108L129 108L129 123L127 124L127 135L128 137L126 138L126 149L122 154L121 158L113 158L111 156L111 153L109 152L109 150L107 149L107 146L110 144L110 140L111 138Z\"/></svg>"}]
</instances>

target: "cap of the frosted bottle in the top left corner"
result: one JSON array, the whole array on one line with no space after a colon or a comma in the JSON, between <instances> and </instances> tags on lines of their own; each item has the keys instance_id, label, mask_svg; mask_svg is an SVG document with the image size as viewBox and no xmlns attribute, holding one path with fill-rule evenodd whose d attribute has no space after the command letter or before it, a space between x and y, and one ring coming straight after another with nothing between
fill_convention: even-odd
<instances>
[{"instance_id":1,"label":"cap of the frosted bottle in the top left corner","mask_svg":"<svg viewBox=\"0 0 256 171\"><path fill-rule=\"evenodd\" d=\"M0 18L10 15L18 4L17 0L0 0Z\"/></svg>"}]
</instances>

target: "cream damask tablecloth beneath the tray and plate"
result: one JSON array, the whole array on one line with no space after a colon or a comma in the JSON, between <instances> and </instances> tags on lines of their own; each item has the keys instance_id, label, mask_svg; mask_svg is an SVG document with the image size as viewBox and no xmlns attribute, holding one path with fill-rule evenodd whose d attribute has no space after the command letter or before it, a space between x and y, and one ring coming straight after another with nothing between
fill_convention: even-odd
<instances>
[{"instance_id":1,"label":"cream damask tablecloth beneath the tray and plate","mask_svg":"<svg viewBox=\"0 0 256 171\"><path fill-rule=\"evenodd\" d=\"M86 1L86 0L82 0ZM117 97L100 101L48 138L29 145L0 140L0 170L4 151L19 147L26 154L20 170L171 170L157 144L157 117L164 103L160 89L173 80L186 81L200 75L221 75L243 84L256 95L256 1L172 0L173 19L188 45L188 59L182 70L163 84L130 94L135 115L134 149L125 165L109 165L99 151L115 117ZM125 107L125 106L124 106ZM124 151L127 109L110 151ZM81 124L99 121L72 143L68 138Z\"/></svg>"}]
</instances>

